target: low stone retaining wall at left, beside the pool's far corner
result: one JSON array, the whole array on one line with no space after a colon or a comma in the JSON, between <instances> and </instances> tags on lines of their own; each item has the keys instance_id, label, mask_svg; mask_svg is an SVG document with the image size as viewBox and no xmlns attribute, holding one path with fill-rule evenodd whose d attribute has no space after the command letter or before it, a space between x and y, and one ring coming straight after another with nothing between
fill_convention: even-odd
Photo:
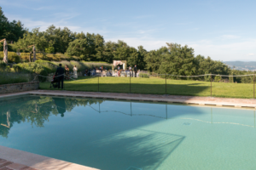
<instances>
[{"instance_id":1,"label":"low stone retaining wall at left, beside the pool's far corner","mask_svg":"<svg viewBox=\"0 0 256 170\"><path fill-rule=\"evenodd\" d=\"M9 94L15 92L36 90L39 88L39 82L20 82L14 84L0 85L0 94Z\"/></svg>"}]
</instances>

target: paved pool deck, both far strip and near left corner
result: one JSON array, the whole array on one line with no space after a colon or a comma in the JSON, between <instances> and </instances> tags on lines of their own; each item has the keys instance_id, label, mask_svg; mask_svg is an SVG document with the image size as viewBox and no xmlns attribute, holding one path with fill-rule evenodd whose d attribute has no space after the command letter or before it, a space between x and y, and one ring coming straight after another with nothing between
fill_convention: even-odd
<instances>
[{"instance_id":1,"label":"paved pool deck, both far strip and near left corner","mask_svg":"<svg viewBox=\"0 0 256 170\"><path fill-rule=\"evenodd\" d=\"M65 90L33 90L15 94L0 94L0 99L14 97L24 94L44 96L64 96L75 98L96 98L96 99L122 99L136 101L153 101L180 103L186 105L209 105L209 106L230 106L234 108L256 109L256 99L232 99L215 97L196 97L178 95L157 95L157 94L118 94L118 93L97 93L79 92ZM38 156L21 150L15 150L0 145L0 170L96 170L93 167L84 167L67 161Z\"/></svg>"}]
</instances>

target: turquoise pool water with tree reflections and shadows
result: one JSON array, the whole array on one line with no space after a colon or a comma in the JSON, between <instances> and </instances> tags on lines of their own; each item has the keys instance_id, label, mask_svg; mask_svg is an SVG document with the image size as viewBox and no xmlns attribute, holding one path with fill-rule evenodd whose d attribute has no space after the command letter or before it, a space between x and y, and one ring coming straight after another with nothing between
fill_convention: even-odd
<instances>
[{"instance_id":1,"label":"turquoise pool water with tree reflections and shadows","mask_svg":"<svg viewBox=\"0 0 256 170\"><path fill-rule=\"evenodd\" d=\"M98 169L256 167L253 110L26 95L0 124L0 145Z\"/></svg>"}]
</instances>

